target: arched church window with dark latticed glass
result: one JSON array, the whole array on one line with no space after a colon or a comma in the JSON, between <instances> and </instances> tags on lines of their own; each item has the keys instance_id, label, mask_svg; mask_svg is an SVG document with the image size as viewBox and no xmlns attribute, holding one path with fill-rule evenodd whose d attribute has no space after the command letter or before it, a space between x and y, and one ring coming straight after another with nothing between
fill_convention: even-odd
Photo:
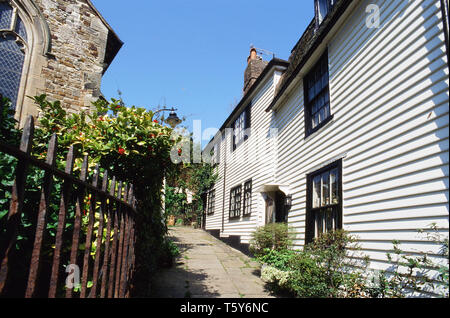
<instances>
[{"instance_id":1,"label":"arched church window with dark latticed glass","mask_svg":"<svg viewBox=\"0 0 450 318\"><path fill-rule=\"evenodd\" d=\"M16 108L22 79L27 31L17 9L0 1L0 94Z\"/></svg>"}]
</instances>

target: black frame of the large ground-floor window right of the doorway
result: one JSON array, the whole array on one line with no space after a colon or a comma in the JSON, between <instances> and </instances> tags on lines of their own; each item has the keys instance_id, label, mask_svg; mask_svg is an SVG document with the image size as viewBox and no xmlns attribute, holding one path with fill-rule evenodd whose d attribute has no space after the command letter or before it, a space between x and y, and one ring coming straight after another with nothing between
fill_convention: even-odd
<instances>
[{"instance_id":1,"label":"black frame of the large ground-floor window right of the doorway","mask_svg":"<svg viewBox=\"0 0 450 318\"><path fill-rule=\"evenodd\" d=\"M338 202L336 204L329 204L320 207L313 207L313 192L314 185L313 180L317 176L322 176L325 173L329 173L333 170L337 170L338 182L337 182L337 195ZM320 168L310 174L306 175L306 228L305 228L305 244L311 243L316 237L316 214L324 214L325 210L332 210L333 216L335 217L335 229L342 229L342 159L335 161L325 167ZM330 190L329 185L329 191ZM322 232L323 233L323 232Z\"/></svg>"}]
</instances>

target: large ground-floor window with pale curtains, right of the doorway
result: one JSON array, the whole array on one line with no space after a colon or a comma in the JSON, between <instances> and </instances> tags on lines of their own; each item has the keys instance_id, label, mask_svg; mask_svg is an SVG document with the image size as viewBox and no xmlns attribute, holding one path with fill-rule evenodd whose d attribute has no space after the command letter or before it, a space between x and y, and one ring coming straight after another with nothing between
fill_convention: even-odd
<instances>
[{"instance_id":1,"label":"large ground-floor window with pale curtains, right of the doorway","mask_svg":"<svg viewBox=\"0 0 450 318\"><path fill-rule=\"evenodd\" d=\"M306 243L342 228L341 167L338 161L307 176Z\"/></svg>"}]
</instances>

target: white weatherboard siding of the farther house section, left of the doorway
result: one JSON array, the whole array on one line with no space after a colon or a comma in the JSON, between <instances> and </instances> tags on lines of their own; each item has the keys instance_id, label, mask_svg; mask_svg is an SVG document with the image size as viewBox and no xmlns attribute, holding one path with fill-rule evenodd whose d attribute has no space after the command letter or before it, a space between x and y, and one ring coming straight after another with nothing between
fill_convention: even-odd
<instances>
[{"instance_id":1,"label":"white weatherboard siding of the farther house section, left of the doorway","mask_svg":"<svg viewBox=\"0 0 450 318\"><path fill-rule=\"evenodd\" d=\"M219 179L214 186L216 204L214 214L206 217L206 230L222 229L222 213L224 213L224 227L220 235L222 237L240 236L241 243L249 243L251 233L265 221L263 219L265 203L262 195L256 190L274 179L273 139L268 137L270 114L267 114L265 109L273 100L274 85L279 78L278 71L271 72L251 98L252 133L250 137L234 151L232 151L232 135L226 135L220 144L220 164L216 167ZM250 179L252 180L251 215L248 217L242 215L241 201L241 217L229 219L230 190L242 185L241 200L243 200L244 183Z\"/></svg>"}]
</instances>

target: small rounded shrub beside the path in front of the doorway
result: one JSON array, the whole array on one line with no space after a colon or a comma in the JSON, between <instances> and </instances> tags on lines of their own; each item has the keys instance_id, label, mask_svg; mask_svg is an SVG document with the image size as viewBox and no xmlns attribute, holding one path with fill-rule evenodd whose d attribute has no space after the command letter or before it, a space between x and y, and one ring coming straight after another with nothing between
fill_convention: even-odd
<instances>
[{"instance_id":1,"label":"small rounded shrub beside the path in front of the doorway","mask_svg":"<svg viewBox=\"0 0 450 318\"><path fill-rule=\"evenodd\" d=\"M292 234L285 223L269 223L252 233L250 252L256 257L268 250L286 250L292 245Z\"/></svg>"}]
</instances>

